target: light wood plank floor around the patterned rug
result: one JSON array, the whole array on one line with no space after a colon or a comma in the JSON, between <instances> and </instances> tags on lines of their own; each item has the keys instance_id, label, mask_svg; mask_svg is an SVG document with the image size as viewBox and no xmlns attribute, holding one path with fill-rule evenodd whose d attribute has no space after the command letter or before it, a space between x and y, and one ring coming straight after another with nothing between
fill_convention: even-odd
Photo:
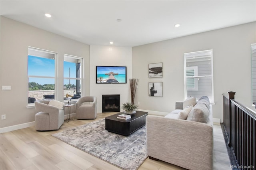
<instances>
[{"instance_id":1,"label":"light wood plank floor around the patterned rug","mask_svg":"<svg viewBox=\"0 0 256 170\"><path fill-rule=\"evenodd\" d=\"M114 113L98 113L95 120ZM38 132L34 127L0 134L0 170L120 170L51 134L95 120L64 122L59 130ZM182 170L178 166L147 158L138 170ZM220 125L214 125L214 169L230 169Z\"/></svg>"}]
</instances>

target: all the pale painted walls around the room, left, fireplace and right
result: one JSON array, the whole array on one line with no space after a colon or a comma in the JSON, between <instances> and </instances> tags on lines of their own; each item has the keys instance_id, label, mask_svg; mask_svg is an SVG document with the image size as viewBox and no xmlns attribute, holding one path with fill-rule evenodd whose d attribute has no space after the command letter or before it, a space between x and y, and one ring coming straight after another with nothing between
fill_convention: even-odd
<instances>
[{"instance_id":1,"label":"all the pale painted walls around the room, left, fireplace and right","mask_svg":"<svg viewBox=\"0 0 256 170\"><path fill-rule=\"evenodd\" d=\"M214 118L222 119L222 93L231 90L238 101L253 109L250 44L256 43L256 22L132 48L89 47L2 16L0 31L0 86L12 87L0 91L0 114L6 114L6 120L0 120L1 128L34 121L36 111L26 108L28 46L58 52L60 61L64 53L84 57L84 95L98 97L98 113L102 112L103 94L120 94L121 104L130 101L130 78L140 79L135 97L139 109L172 111L175 101L184 100L184 53L213 49ZM163 78L148 78L148 64L159 62L163 63ZM96 65L126 66L127 83L96 84ZM59 72L63 79L62 65ZM157 81L163 82L163 97L149 97L148 82ZM61 92L62 88L58 87Z\"/></svg>"}]
</instances>

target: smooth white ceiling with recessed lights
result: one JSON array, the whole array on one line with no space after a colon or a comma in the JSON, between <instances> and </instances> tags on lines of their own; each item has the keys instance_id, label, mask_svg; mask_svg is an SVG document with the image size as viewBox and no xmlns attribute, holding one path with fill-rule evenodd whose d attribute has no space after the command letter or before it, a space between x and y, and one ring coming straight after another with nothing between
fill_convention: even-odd
<instances>
[{"instance_id":1,"label":"smooth white ceiling with recessed lights","mask_svg":"<svg viewBox=\"0 0 256 170\"><path fill-rule=\"evenodd\" d=\"M0 14L89 45L134 47L254 22L256 0L0 0Z\"/></svg>"}]
</instances>

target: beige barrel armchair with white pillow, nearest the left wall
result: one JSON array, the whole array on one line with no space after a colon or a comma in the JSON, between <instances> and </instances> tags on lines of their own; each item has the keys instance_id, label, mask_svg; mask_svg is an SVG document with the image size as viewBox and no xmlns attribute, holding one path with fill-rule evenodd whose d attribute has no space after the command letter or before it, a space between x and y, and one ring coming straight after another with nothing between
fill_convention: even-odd
<instances>
[{"instance_id":1,"label":"beige barrel armchair with white pillow, nearest the left wall","mask_svg":"<svg viewBox=\"0 0 256 170\"><path fill-rule=\"evenodd\" d=\"M64 123L64 109L48 105L50 101L35 101L36 113L35 128L36 130L57 130Z\"/></svg>"}]
</instances>

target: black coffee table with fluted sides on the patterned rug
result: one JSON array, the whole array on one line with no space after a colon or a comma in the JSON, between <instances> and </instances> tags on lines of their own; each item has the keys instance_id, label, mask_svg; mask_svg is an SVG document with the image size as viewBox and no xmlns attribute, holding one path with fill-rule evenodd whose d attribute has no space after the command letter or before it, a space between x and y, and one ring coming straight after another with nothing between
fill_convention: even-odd
<instances>
[{"instance_id":1,"label":"black coffee table with fluted sides on the patterned rug","mask_svg":"<svg viewBox=\"0 0 256 170\"><path fill-rule=\"evenodd\" d=\"M117 113L105 118L105 129L109 132L128 136L146 124L146 116L148 112L136 111L131 119L117 119L118 115L124 112Z\"/></svg>"}]
</instances>

